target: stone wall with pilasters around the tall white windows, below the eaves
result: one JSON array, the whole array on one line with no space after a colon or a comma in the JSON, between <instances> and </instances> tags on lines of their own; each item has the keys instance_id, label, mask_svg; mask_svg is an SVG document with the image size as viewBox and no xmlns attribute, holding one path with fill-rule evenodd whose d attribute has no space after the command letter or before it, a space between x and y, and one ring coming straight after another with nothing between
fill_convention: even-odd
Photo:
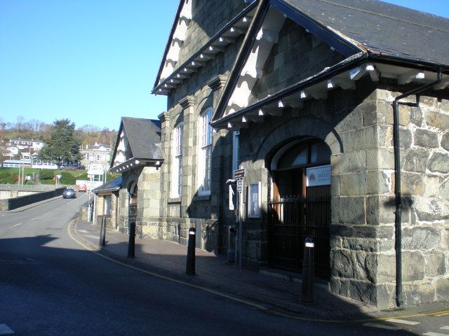
<instances>
[{"instance_id":1,"label":"stone wall with pilasters around the tall white windows, below the eaves","mask_svg":"<svg viewBox=\"0 0 449 336\"><path fill-rule=\"evenodd\" d=\"M201 246L208 251L215 251L219 238L220 202L222 202L222 144L227 132L213 134L212 149L212 179L210 195L198 195L198 151L200 114L208 107L215 107L222 89L217 77L217 85L210 80L193 96L182 99L167 113L160 116L162 120L162 144L164 164L161 167L161 222L159 223L159 238L187 244L187 233L190 225L201 225ZM209 84L208 84L209 83ZM182 147L182 194L180 197L170 197L171 171L173 155L173 129L182 120L184 127ZM229 150L229 148L227 148ZM229 152L232 153L232 152ZM227 175L229 176L229 174ZM229 178L229 177L227 177ZM207 228L207 230L206 230ZM221 243L221 241L220 241Z\"/></svg>"}]
</instances>

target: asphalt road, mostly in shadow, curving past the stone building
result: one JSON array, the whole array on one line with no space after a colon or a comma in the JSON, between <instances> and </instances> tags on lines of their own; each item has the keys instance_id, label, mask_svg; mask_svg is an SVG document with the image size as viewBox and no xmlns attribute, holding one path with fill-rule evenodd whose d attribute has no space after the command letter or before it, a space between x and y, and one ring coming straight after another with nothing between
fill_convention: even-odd
<instances>
[{"instance_id":1,"label":"asphalt road, mostly in shadow, curving past the stone building","mask_svg":"<svg viewBox=\"0 0 449 336\"><path fill-rule=\"evenodd\" d=\"M0 214L0 335L449 335L447 316L298 320L123 267L69 237L86 200Z\"/></svg>"}]
</instances>

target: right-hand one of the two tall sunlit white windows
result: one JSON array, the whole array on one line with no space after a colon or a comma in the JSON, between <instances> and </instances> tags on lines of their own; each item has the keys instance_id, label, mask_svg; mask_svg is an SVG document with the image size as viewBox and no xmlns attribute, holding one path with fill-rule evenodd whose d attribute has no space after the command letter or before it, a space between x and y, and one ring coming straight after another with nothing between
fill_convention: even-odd
<instances>
[{"instance_id":1,"label":"right-hand one of the two tall sunlit white windows","mask_svg":"<svg viewBox=\"0 0 449 336\"><path fill-rule=\"evenodd\" d=\"M212 108L207 109L199 118L199 195L210 195L210 162L212 159L212 127L210 126L210 118L212 117L212 111Z\"/></svg>"}]
</instances>

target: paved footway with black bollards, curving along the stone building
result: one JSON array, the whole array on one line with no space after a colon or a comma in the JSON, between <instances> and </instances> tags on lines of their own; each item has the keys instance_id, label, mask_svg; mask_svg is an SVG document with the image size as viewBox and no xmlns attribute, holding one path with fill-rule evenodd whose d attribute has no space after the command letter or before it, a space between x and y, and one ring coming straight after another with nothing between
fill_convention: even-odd
<instances>
[{"instance_id":1,"label":"paved footway with black bollards, curving along the stone building","mask_svg":"<svg viewBox=\"0 0 449 336\"><path fill-rule=\"evenodd\" d=\"M85 248L109 260L276 314L349 321L374 318L377 312L373 306L330 293L326 281L316 281L314 302L302 302L300 279L272 269L239 270L227 265L226 255L197 248L196 274L188 275L187 246L136 237L135 258L127 258L128 235L107 229L106 245L98 246L100 227L79 218L69 225L69 232Z\"/></svg>"}]
</instances>

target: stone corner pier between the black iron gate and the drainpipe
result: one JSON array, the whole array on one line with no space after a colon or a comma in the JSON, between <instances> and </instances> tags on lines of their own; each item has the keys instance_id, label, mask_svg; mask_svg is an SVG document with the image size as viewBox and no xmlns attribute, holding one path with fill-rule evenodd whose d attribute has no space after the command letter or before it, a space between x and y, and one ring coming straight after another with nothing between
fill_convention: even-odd
<instances>
[{"instance_id":1,"label":"stone corner pier between the black iron gate and the drainpipe","mask_svg":"<svg viewBox=\"0 0 449 336\"><path fill-rule=\"evenodd\" d=\"M379 282L394 281L394 272L380 274L379 266L394 270L394 256L380 258L380 251L394 244L394 216L386 205L394 195L394 157L391 133L379 123L376 92L336 130L344 150L331 156L330 286L340 295L388 307L390 294Z\"/></svg>"}]
</instances>

